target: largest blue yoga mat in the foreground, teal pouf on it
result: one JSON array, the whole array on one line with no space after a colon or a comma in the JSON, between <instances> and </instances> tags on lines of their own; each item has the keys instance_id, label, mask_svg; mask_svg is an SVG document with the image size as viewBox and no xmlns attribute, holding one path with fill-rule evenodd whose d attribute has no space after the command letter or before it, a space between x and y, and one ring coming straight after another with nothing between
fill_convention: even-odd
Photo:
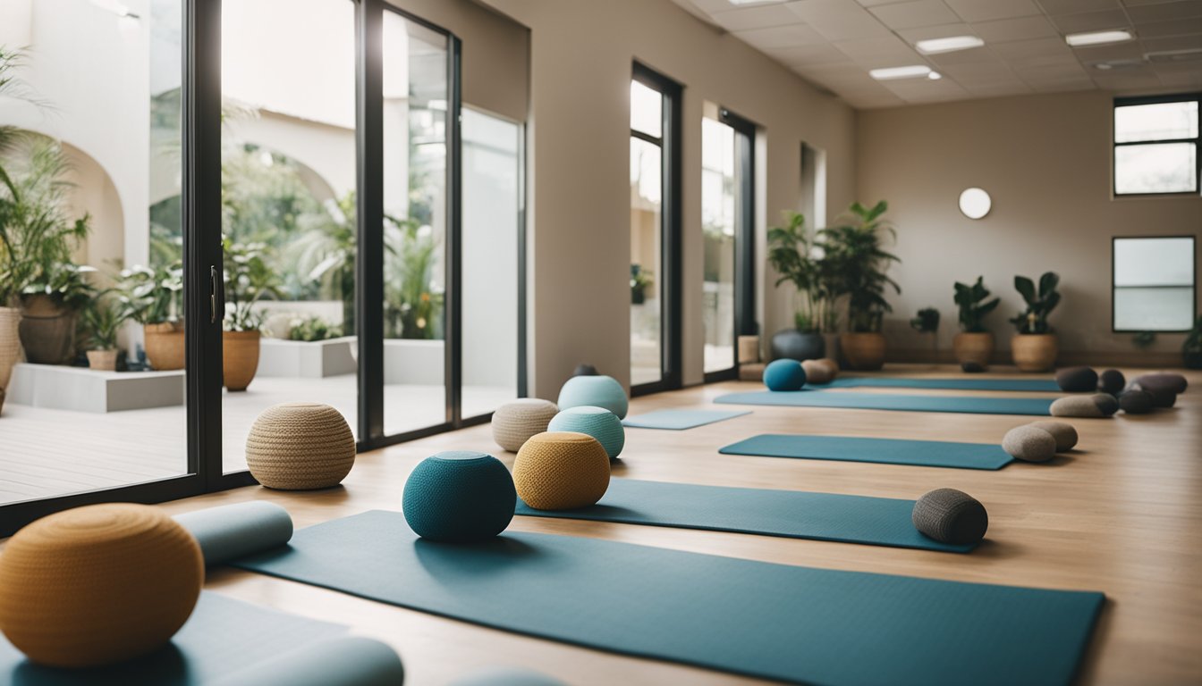
<instances>
[{"instance_id":1,"label":"largest blue yoga mat in the foreground, teal pouf on it","mask_svg":"<svg viewBox=\"0 0 1202 686\"><path fill-rule=\"evenodd\" d=\"M419 541L399 512L237 566L463 621L815 685L1066 685L1105 597L813 569L595 538Z\"/></svg>"}]
</instances>

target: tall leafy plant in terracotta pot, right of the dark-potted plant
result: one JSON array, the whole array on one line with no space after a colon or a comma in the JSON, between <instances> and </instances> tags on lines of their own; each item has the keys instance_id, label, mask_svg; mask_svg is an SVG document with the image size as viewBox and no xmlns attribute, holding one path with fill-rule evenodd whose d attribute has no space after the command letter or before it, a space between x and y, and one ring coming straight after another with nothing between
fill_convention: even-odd
<instances>
[{"instance_id":1,"label":"tall leafy plant in terracotta pot, right of the dark-potted plant","mask_svg":"<svg viewBox=\"0 0 1202 686\"><path fill-rule=\"evenodd\" d=\"M871 208L852 203L844 213L844 223L819 232L823 262L832 279L832 296L847 296L847 333L840 347L852 369L875 370L885 364L885 336L881 323L893 308L885 299L886 287L902 293L902 287L885 272L900 260L882 247L881 234L895 237L893 227L881 220L888 203Z\"/></svg>"}]
</instances>

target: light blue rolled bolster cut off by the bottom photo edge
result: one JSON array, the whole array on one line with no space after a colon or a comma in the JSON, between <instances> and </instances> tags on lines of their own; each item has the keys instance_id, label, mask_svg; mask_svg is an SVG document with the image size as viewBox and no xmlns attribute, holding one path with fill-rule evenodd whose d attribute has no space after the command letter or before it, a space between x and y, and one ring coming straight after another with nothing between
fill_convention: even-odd
<instances>
[{"instance_id":1,"label":"light blue rolled bolster cut off by the bottom photo edge","mask_svg":"<svg viewBox=\"0 0 1202 686\"><path fill-rule=\"evenodd\" d=\"M362 637L331 638L248 667L214 686L400 686L405 668L388 645Z\"/></svg>"}]
</instances>

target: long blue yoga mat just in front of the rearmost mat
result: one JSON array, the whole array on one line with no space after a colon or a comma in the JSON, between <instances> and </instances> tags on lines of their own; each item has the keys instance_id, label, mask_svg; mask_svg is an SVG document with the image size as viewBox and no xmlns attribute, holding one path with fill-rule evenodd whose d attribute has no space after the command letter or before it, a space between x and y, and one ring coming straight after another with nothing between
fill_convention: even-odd
<instances>
[{"instance_id":1,"label":"long blue yoga mat just in front of the rearmost mat","mask_svg":"<svg viewBox=\"0 0 1202 686\"><path fill-rule=\"evenodd\" d=\"M791 405L795 407L843 407L849 410L898 410L903 412L968 412L972 414L1049 416L1052 400L1042 398L974 398L893 395L886 393L827 393L822 390L755 390L719 395L714 402L732 405Z\"/></svg>"}]
</instances>

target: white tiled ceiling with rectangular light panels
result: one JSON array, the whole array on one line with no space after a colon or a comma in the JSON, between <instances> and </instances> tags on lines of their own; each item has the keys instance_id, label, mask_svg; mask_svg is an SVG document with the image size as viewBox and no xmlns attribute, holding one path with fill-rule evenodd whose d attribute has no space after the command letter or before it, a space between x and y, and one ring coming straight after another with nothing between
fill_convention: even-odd
<instances>
[{"instance_id":1,"label":"white tiled ceiling with rectangular light panels","mask_svg":"<svg viewBox=\"0 0 1202 686\"><path fill-rule=\"evenodd\" d=\"M1202 88L1202 0L674 0L858 108L1028 93ZM1070 48L1065 34L1127 29L1136 40ZM982 48L922 55L924 38ZM1197 50L1165 61L1162 53ZM1148 59L1148 54L1153 59ZM1099 68L1099 64L1111 68ZM944 78L877 82L868 70L928 65Z\"/></svg>"}]
</instances>

